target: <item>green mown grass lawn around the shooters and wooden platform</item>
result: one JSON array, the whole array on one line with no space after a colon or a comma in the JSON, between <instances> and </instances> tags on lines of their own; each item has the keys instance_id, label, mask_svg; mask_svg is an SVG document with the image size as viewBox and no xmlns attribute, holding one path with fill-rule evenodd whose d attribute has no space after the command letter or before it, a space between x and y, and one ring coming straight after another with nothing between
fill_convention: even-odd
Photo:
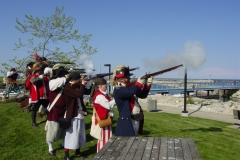
<instances>
[{"instance_id":1,"label":"green mown grass lawn around the shooters and wooden platform","mask_svg":"<svg viewBox=\"0 0 240 160\"><path fill-rule=\"evenodd\" d=\"M91 106L85 118L87 146L81 151L93 158L96 140L89 135ZM117 117L117 111L115 111ZM231 129L230 123L196 117L183 117L145 111L144 137L193 138L203 160L239 160L240 130ZM58 160L63 159L61 141L54 143L56 157L48 155L45 142L45 118L37 118L39 128L31 126L30 113L22 112L16 103L0 104L0 159L7 160ZM116 118L113 129L116 124ZM70 155L75 151L71 150Z\"/></svg>"}]
</instances>

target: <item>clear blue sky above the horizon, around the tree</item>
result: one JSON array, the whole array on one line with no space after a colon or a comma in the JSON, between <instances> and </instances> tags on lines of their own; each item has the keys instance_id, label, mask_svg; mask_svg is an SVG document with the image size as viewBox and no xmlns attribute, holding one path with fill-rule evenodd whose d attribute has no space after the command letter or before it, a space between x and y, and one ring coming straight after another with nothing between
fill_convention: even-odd
<instances>
[{"instance_id":1,"label":"clear blue sky above the horizon, around the tree","mask_svg":"<svg viewBox=\"0 0 240 160\"><path fill-rule=\"evenodd\" d=\"M0 63L14 56L18 38L16 18L47 17L65 7L76 18L74 29L92 34L89 44L98 52L90 57L96 72L104 64L140 67L136 77L184 64L191 79L240 79L239 0L1 0ZM69 45L61 46L67 50ZM0 69L3 69L0 66ZM158 76L183 78L184 68Z\"/></svg>"}]
</instances>

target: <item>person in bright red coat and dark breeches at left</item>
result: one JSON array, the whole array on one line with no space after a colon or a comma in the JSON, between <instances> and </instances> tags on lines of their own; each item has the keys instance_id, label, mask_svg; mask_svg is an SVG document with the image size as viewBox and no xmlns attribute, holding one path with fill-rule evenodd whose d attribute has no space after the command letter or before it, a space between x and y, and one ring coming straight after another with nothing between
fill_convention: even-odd
<instances>
[{"instance_id":1,"label":"person in bright red coat and dark breeches at left","mask_svg":"<svg viewBox=\"0 0 240 160\"><path fill-rule=\"evenodd\" d=\"M32 126L38 127L36 124L36 114L41 105L47 108L49 100L49 79L43 75L43 68L38 63L34 63L32 67L32 74L26 80L26 89L29 90L31 97L31 118Z\"/></svg>"}]
</instances>

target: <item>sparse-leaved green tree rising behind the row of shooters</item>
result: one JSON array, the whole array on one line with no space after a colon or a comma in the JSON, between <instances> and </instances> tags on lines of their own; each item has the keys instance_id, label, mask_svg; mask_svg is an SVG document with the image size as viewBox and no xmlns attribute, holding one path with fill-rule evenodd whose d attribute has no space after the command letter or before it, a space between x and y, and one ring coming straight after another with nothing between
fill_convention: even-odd
<instances>
[{"instance_id":1,"label":"sparse-leaved green tree rising behind the row of shooters","mask_svg":"<svg viewBox=\"0 0 240 160\"><path fill-rule=\"evenodd\" d=\"M14 50L21 48L26 53L26 57L23 59L14 57L9 60L15 68L23 71L28 62L34 61L31 57L32 53L38 53L50 61L75 63L68 65L68 67L80 67L83 63L78 61L79 55L91 55L97 52L96 48L88 45L92 35L80 35L78 30L73 29L76 19L66 16L63 11L64 7L56 7L55 13L50 17L40 19L32 15L25 15L26 20L23 22L20 22L18 18L16 19L16 29L21 33L28 34L30 38L24 41L19 38L18 43L15 43ZM70 44L73 42L76 42L77 45ZM70 46L72 49L63 51L59 47L63 45L65 48ZM2 66L5 70L0 70L0 72L3 74L12 67L8 63L2 63Z\"/></svg>"}]
</instances>

